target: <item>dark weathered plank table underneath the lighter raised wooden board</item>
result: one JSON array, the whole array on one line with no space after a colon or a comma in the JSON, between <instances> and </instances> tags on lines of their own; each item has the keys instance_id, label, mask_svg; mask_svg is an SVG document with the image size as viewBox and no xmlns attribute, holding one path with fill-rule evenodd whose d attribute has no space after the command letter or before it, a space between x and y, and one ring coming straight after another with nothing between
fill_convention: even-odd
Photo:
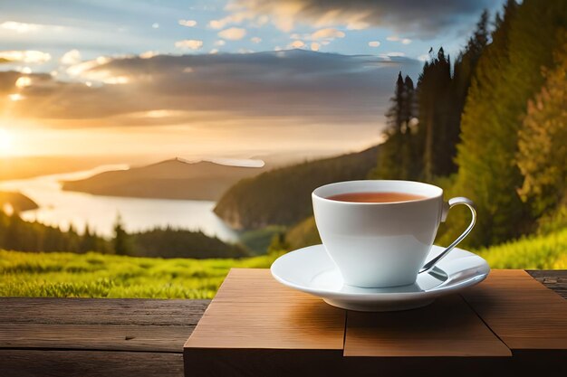
<instances>
[{"instance_id":1,"label":"dark weathered plank table underneath the lighter raised wooden board","mask_svg":"<svg viewBox=\"0 0 567 377\"><path fill-rule=\"evenodd\" d=\"M567 298L567 270L528 272ZM183 376L183 344L208 303L0 297L0 376Z\"/></svg>"}]
</instances>

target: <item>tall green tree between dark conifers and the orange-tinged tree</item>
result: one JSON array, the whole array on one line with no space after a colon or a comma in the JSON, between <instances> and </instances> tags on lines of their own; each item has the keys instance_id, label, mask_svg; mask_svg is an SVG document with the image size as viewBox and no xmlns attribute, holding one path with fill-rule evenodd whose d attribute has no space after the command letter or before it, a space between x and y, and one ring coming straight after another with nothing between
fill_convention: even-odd
<instances>
[{"instance_id":1,"label":"tall green tree between dark conifers and the orange-tinged tree","mask_svg":"<svg viewBox=\"0 0 567 377\"><path fill-rule=\"evenodd\" d=\"M469 240L475 245L517 237L533 224L517 193L523 184L517 134L528 99L543 84L539 73L552 64L557 30L567 26L566 6L562 0L508 1L478 60L462 116L454 190L476 202L480 221ZM451 221L453 234L465 226L458 222Z\"/></svg>"}]
</instances>

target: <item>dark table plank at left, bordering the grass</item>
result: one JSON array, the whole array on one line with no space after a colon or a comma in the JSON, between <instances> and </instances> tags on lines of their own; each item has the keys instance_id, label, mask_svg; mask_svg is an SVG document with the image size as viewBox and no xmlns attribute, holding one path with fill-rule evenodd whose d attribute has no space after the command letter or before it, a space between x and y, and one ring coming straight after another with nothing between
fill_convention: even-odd
<instances>
[{"instance_id":1,"label":"dark table plank at left, bordering the grass","mask_svg":"<svg viewBox=\"0 0 567 377\"><path fill-rule=\"evenodd\" d=\"M197 325L210 300L0 297L0 324Z\"/></svg>"}]
</instances>

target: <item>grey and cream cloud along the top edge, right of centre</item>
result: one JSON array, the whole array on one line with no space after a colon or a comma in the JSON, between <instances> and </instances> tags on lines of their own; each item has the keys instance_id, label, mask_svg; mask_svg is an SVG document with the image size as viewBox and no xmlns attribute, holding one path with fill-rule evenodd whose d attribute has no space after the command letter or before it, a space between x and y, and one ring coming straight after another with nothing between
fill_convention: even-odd
<instances>
[{"instance_id":1,"label":"grey and cream cloud along the top edge, right of centre","mask_svg":"<svg viewBox=\"0 0 567 377\"><path fill-rule=\"evenodd\" d=\"M269 16L284 32L297 23L350 30L383 26L425 38L463 24L474 23L490 0L232 0L227 9L257 19Z\"/></svg>"}]
</instances>

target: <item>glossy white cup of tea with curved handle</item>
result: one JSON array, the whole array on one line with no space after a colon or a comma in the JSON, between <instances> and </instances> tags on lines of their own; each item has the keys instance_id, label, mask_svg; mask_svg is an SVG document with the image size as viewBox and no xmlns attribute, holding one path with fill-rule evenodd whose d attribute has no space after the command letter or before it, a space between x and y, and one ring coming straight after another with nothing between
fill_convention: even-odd
<instances>
[{"instance_id":1,"label":"glossy white cup of tea with curved handle","mask_svg":"<svg viewBox=\"0 0 567 377\"><path fill-rule=\"evenodd\" d=\"M423 199L360 203L328 199L342 193L408 193ZM432 269L473 229L474 203L458 197L443 202L443 189L412 181L349 181L326 184L312 193L315 222L322 243L341 271L344 284L398 287L414 284L418 273ZM449 208L465 204L470 225L437 258L426 258L437 228Z\"/></svg>"}]
</instances>

